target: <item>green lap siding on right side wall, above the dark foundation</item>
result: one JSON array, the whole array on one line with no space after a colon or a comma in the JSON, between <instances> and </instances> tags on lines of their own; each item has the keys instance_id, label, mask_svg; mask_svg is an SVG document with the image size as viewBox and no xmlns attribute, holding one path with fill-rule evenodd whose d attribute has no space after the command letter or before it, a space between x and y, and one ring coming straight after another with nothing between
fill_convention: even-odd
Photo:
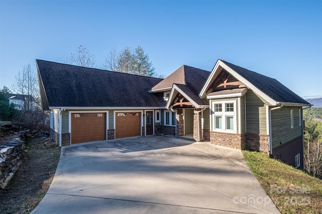
<instances>
[{"instance_id":1,"label":"green lap siding on right side wall, above the dark foundation","mask_svg":"<svg viewBox=\"0 0 322 214\"><path fill-rule=\"evenodd\" d=\"M302 135L302 123L298 122L298 107L283 106L271 112L272 147L277 148ZM291 110L293 110L294 127L291 128Z\"/></svg>"}]
</instances>

